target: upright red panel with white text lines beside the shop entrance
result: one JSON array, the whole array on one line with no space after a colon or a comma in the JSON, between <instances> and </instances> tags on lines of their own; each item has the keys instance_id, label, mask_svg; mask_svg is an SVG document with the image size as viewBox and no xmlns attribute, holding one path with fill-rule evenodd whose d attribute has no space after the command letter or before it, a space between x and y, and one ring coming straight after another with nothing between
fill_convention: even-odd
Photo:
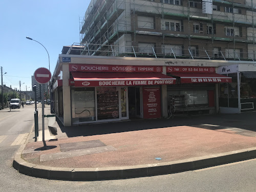
<instances>
[{"instance_id":1,"label":"upright red panel with white text lines beside the shop entrance","mask_svg":"<svg viewBox=\"0 0 256 192\"><path fill-rule=\"evenodd\" d=\"M143 118L161 117L160 87L143 87Z\"/></svg>"}]
</instances>

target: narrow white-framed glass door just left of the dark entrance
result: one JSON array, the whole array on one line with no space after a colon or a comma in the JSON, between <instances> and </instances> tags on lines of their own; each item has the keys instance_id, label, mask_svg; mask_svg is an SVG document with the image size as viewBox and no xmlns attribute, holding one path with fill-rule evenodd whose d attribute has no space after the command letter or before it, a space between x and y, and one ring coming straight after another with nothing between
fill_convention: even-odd
<instances>
[{"instance_id":1,"label":"narrow white-framed glass door just left of the dark entrance","mask_svg":"<svg viewBox=\"0 0 256 192\"><path fill-rule=\"evenodd\" d=\"M120 118L121 119L129 119L129 111L128 111L128 89L126 87L120 88Z\"/></svg>"}]
</instances>

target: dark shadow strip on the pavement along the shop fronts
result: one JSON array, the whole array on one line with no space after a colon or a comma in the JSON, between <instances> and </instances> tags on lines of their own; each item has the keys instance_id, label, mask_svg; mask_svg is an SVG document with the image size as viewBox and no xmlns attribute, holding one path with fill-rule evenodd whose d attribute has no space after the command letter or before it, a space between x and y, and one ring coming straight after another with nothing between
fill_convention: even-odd
<instances>
[{"instance_id":1,"label":"dark shadow strip on the pavement along the shop fronts","mask_svg":"<svg viewBox=\"0 0 256 192\"><path fill-rule=\"evenodd\" d=\"M74 126L63 126L56 118L62 133L68 137L103 135L148 129L159 129L172 126L193 126L202 129L226 129L237 127L239 129L256 132L256 112L242 114L220 114L220 115L203 115L203 116L182 116L170 119L139 119L132 121L115 121L107 123L91 123ZM208 125L211 126L208 126ZM216 126L212 126L216 125Z\"/></svg>"}]
</instances>

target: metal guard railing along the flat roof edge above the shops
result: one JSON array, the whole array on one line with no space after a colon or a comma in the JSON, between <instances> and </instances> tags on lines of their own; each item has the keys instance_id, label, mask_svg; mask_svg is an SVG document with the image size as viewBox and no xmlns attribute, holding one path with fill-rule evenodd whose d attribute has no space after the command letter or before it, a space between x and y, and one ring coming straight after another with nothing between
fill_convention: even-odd
<instances>
[{"instance_id":1,"label":"metal guard railing along the flat roof edge above the shops","mask_svg":"<svg viewBox=\"0 0 256 192\"><path fill-rule=\"evenodd\" d=\"M97 42L100 42L99 40ZM219 49L206 50L198 49L197 46L184 48L184 46L143 44L136 46L117 46L108 45L106 36L102 39L101 44L79 44L81 55L97 55L97 56L114 56L114 57L155 57L155 58L175 58L175 59L208 59L208 60L256 60L256 53L253 49L247 52L242 49ZM75 47L75 46L74 46ZM77 50L76 46L76 50ZM72 49L72 48L71 48Z\"/></svg>"}]
</instances>

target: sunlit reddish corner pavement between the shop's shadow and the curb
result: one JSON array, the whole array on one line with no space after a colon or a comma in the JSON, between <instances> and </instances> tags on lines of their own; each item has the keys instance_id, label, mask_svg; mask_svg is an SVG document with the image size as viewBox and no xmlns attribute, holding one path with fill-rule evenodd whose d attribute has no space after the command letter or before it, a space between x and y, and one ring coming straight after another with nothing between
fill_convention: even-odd
<instances>
[{"instance_id":1,"label":"sunlit reddish corner pavement between the shop's shadow and the curb","mask_svg":"<svg viewBox=\"0 0 256 192\"><path fill-rule=\"evenodd\" d=\"M60 143L90 141L100 139L117 151L84 155L39 162L40 155L60 152ZM112 133L105 135L80 136L58 141L48 141L56 147L38 153L24 154L26 161L52 167L113 167L152 164L201 157L224 152L256 147L256 137L238 135L232 131L208 130L191 126L174 126L159 129ZM31 142L25 147L39 148L42 142ZM156 160L160 157L162 160Z\"/></svg>"}]
</instances>

